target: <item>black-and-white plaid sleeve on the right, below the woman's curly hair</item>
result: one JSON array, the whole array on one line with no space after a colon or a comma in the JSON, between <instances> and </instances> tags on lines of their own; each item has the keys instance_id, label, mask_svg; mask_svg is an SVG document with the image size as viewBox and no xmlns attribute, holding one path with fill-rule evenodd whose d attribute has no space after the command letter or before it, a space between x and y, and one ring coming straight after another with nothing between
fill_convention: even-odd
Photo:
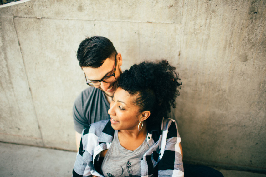
<instances>
[{"instance_id":1,"label":"black-and-white plaid sleeve on the right, below the woman's curly hair","mask_svg":"<svg viewBox=\"0 0 266 177\"><path fill-rule=\"evenodd\" d=\"M158 176L183 177L184 168L176 121L167 119L167 129L162 132L162 149L158 164ZM171 120L171 121L169 121Z\"/></svg>"}]
</instances>

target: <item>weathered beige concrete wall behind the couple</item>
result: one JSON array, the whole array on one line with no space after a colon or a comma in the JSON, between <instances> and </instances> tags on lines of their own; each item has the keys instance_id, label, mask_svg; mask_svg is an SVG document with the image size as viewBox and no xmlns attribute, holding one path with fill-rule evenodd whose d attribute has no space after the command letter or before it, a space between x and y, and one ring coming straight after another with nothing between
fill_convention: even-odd
<instances>
[{"instance_id":1,"label":"weathered beige concrete wall behind the couple","mask_svg":"<svg viewBox=\"0 0 266 177\"><path fill-rule=\"evenodd\" d=\"M121 52L123 70L161 58L176 66L185 161L265 172L265 7L265 0L0 6L0 141L75 150L72 105L87 87L75 51L85 36L101 35Z\"/></svg>"}]
</instances>

